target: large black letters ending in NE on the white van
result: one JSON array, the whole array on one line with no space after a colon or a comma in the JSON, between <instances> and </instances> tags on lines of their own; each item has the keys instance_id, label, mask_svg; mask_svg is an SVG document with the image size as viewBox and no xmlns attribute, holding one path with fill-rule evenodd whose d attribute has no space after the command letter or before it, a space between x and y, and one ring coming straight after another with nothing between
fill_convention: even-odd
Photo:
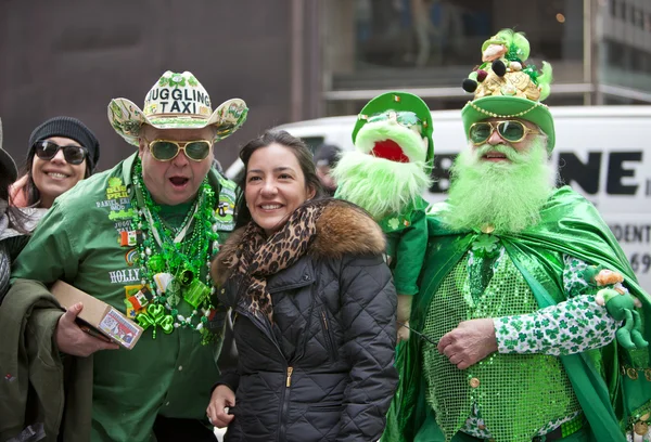
<instances>
[{"instance_id":1,"label":"large black letters ending in NE on the white van","mask_svg":"<svg viewBox=\"0 0 651 442\"><path fill-rule=\"evenodd\" d=\"M434 183L432 193L445 193L449 187L450 167L456 154L436 154L434 156ZM560 152L557 170L561 182L576 183L585 194L596 195L600 191L601 171L605 171L603 191L608 195L651 196L651 177L636 177L635 164L642 164L642 152L589 152L584 161L574 152ZM605 165L605 168L602 168ZM640 168L641 169L641 168ZM638 169L639 170L639 169Z\"/></svg>"}]
</instances>

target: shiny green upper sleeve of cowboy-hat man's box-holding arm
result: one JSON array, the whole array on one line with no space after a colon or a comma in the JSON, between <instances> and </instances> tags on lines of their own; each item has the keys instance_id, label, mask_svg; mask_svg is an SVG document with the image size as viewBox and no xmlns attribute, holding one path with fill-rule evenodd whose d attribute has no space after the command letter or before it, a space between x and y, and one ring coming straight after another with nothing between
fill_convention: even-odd
<instances>
[{"instance_id":1,"label":"shiny green upper sleeve of cowboy-hat man's box-holding arm","mask_svg":"<svg viewBox=\"0 0 651 442\"><path fill-rule=\"evenodd\" d=\"M54 202L16 258L12 282L16 278L36 280L48 285L56 280L74 281L79 264L68 234L71 229L74 226L66 219L64 208Z\"/></svg>"}]
</instances>

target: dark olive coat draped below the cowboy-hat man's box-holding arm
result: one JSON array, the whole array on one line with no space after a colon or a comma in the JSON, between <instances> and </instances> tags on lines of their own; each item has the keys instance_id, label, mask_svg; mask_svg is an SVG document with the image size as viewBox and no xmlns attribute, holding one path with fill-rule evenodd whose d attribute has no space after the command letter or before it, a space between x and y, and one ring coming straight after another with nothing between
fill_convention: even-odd
<instances>
[{"instance_id":1,"label":"dark olive coat draped below the cowboy-hat man's box-holding arm","mask_svg":"<svg viewBox=\"0 0 651 442\"><path fill-rule=\"evenodd\" d=\"M51 343L62 314L44 286L23 280L0 306L0 441L27 427L43 431L48 442L55 442L60 433L66 442L90 438L92 358L62 361Z\"/></svg>"}]
</instances>

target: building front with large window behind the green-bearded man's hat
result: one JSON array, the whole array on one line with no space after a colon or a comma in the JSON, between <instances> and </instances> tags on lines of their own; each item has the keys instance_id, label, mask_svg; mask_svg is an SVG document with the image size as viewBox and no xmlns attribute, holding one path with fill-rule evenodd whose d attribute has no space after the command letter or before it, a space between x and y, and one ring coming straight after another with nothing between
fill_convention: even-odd
<instances>
[{"instance_id":1,"label":"building front with large window behind the green-bearded man's hat","mask_svg":"<svg viewBox=\"0 0 651 442\"><path fill-rule=\"evenodd\" d=\"M327 115L355 114L392 89L412 91L433 109L461 108L469 96L461 82L501 28L526 34L525 63L552 65L549 105L599 104L604 95L651 102L649 0L531 0L526 8L520 0L332 0L329 8Z\"/></svg>"}]
</instances>

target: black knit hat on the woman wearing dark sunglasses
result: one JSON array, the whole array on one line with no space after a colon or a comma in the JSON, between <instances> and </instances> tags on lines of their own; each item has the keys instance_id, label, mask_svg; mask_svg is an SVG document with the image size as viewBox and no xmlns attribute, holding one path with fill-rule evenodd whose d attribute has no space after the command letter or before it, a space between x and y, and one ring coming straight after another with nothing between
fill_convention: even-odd
<instances>
[{"instance_id":1,"label":"black knit hat on the woman wearing dark sunglasses","mask_svg":"<svg viewBox=\"0 0 651 442\"><path fill-rule=\"evenodd\" d=\"M28 155L31 155L34 152L34 145L37 141L52 136L69 138L86 147L88 150L87 159L90 162L90 170L94 170L100 160L100 142L85 123L72 117L50 118L31 132Z\"/></svg>"}]
</instances>

